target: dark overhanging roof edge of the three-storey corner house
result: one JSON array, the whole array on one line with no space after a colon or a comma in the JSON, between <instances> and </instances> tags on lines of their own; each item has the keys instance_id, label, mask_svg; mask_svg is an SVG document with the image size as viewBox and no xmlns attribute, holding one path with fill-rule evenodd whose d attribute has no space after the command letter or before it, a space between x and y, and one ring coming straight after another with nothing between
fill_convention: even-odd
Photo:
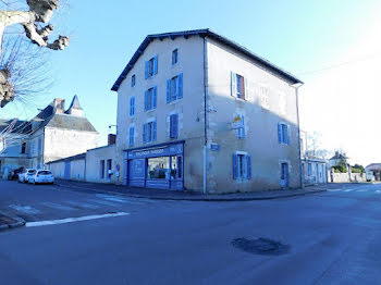
<instances>
[{"instance_id":1,"label":"dark overhanging roof edge of the three-storey corner house","mask_svg":"<svg viewBox=\"0 0 381 285\"><path fill-rule=\"evenodd\" d=\"M128 64L125 66L125 69L123 70L123 72L121 73L121 75L118 77L116 82L114 83L114 85L112 86L111 90L112 91L118 91L119 87L121 86L122 82L125 79L125 77L127 76L128 72L134 67L134 64L137 62L137 60L140 58L140 55L144 53L144 51L146 50L146 48L148 47L148 45L155 40L155 39L164 39L164 38L171 38L171 39L175 39L176 37L184 37L184 38L188 38L190 36L200 36L200 37L209 37L212 38L225 46L229 46L233 49L235 49L238 52L242 52L243 54L247 55L248 58L250 58L251 60L258 62L259 64L261 64L262 66L267 67L268 70L272 71L274 74L292 82L293 84L303 84L302 80L299 80L298 78L296 78L294 75L290 74L286 71L283 71L282 69L278 67L276 65L272 64L271 62L269 62L268 60L253 53L251 51L249 51L248 49L246 49L245 47L210 30L209 28L205 28L205 29L194 29L194 30L184 30L184 32L174 32L174 33L165 33L165 34L155 34L155 35L148 35L145 40L140 44L140 46L138 47L138 49L136 50L136 52L134 53L134 55L132 57L132 59L130 60Z\"/></svg>"}]
</instances>

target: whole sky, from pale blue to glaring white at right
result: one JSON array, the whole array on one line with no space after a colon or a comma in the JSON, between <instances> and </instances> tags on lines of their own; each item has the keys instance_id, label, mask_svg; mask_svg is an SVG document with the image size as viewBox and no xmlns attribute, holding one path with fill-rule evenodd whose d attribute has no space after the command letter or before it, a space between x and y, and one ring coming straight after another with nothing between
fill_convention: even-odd
<instances>
[{"instance_id":1,"label":"whole sky, from pale blue to glaring white at right","mask_svg":"<svg viewBox=\"0 0 381 285\"><path fill-rule=\"evenodd\" d=\"M50 54L54 84L0 117L32 119L53 98L77 95L106 144L116 121L111 86L149 34L211 28L299 77L300 125L320 148L343 149L353 163L381 162L381 1L379 0L65 0L57 33L70 47Z\"/></svg>"}]
</instances>

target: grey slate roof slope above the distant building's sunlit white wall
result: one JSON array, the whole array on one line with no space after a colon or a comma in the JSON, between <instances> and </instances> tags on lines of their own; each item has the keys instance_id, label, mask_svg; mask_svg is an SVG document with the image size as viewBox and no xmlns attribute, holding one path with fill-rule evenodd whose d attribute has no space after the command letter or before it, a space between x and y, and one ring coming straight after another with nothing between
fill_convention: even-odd
<instances>
[{"instance_id":1,"label":"grey slate roof slope above the distant building's sunlit white wall","mask_svg":"<svg viewBox=\"0 0 381 285\"><path fill-rule=\"evenodd\" d=\"M85 132L97 132L91 123L84 116L73 116L69 114L54 114L46 120L46 126L56 128L66 128Z\"/></svg>"}]
</instances>

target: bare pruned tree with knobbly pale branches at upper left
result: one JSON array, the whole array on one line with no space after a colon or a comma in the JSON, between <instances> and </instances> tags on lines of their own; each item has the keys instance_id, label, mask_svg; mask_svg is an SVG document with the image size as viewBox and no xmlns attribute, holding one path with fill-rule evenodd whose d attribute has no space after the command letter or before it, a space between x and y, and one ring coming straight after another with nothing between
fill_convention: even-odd
<instances>
[{"instance_id":1,"label":"bare pruned tree with knobbly pale branches at upper left","mask_svg":"<svg viewBox=\"0 0 381 285\"><path fill-rule=\"evenodd\" d=\"M69 45L69 38L65 36L59 36L58 39L49 42L53 26L47 23L50 22L53 11L58 9L59 0L26 0L27 11L22 5L15 10L12 9L15 2L17 1L0 0L0 108L13 101L17 94L34 92L33 88L25 88L25 85L30 86L42 80L37 76L36 67L44 66L44 61L41 63L37 60L39 62L37 66L30 64L36 59L36 51L26 48L27 44L21 37L16 40L7 38L8 28L21 25L28 41L39 48L63 50ZM20 88L23 85L24 88Z\"/></svg>"}]
</instances>

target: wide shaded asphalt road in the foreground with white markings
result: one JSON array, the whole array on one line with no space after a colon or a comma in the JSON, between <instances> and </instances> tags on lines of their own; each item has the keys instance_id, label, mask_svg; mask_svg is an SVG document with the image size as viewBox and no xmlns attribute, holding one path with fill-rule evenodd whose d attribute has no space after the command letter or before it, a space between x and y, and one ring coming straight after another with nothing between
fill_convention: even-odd
<instances>
[{"instance_id":1,"label":"wide shaded asphalt road in the foreground with white markings","mask_svg":"<svg viewBox=\"0 0 381 285\"><path fill-rule=\"evenodd\" d=\"M187 202L0 182L0 211L29 223L128 213L1 232L0 284L381 284L380 207L381 185L370 184ZM232 245L260 237L287 250Z\"/></svg>"}]
</instances>

